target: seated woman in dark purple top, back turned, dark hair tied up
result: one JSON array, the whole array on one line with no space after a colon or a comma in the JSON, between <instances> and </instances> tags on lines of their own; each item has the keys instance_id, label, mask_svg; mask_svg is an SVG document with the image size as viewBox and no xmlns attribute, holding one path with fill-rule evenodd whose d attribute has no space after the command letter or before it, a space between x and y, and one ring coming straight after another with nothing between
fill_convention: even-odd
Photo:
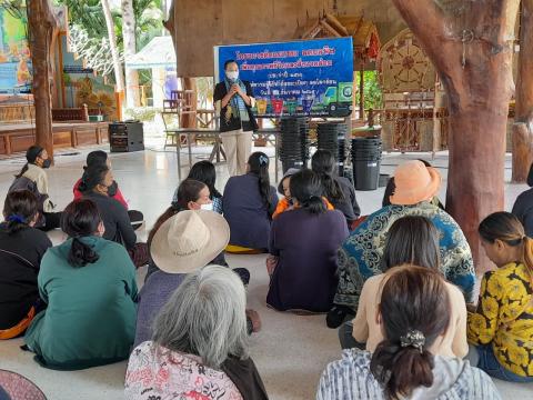
<instances>
[{"instance_id":1,"label":"seated woman in dark purple top, back turned, dark hair tied up","mask_svg":"<svg viewBox=\"0 0 533 400\"><path fill-rule=\"evenodd\" d=\"M336 251L349 232L342 212L328 211L321 196L316 173L294 173L294 210L272 222L270 254L275 258L275 268L266 303L276 310L326 312L333 303L339 282Z\"/></svg>"}]
</instances>

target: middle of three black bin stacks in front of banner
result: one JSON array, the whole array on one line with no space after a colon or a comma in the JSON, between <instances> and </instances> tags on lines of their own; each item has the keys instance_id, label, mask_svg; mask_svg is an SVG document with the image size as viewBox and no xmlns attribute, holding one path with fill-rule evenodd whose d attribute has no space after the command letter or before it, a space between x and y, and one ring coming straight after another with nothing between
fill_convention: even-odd
<instances>
[{"instance_id":1,"label":"middle of three black bin stacks in front of banner","mask_svg":"<svg viewBox=\"0 0 533 400\"><path fill-rule=\"evenodd\" d=\"M344 176L344 161L346 160L346 132L348 124L342 122L323 122L316 128L316 148L328 150L336 161L339 176Z\"/></svg>"}]
</instances>

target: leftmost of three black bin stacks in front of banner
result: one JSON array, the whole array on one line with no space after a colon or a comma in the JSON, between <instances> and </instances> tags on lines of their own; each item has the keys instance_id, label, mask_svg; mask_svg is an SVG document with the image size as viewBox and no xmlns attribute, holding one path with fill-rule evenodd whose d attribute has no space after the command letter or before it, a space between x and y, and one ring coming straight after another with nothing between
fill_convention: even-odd
<instances>
[{"instance_id":1,"label":"leftmost of three black bin stacks in front of banner","mask_svg":"<svg viewBox=\"0 0 533 400\"><path fill-rule=\"evenodd\" d=\"M283 173L289 168L306 168L309 160L309 121L305 117L285 117L280 122L280 160Z\"/></svg>"}]
</instances>

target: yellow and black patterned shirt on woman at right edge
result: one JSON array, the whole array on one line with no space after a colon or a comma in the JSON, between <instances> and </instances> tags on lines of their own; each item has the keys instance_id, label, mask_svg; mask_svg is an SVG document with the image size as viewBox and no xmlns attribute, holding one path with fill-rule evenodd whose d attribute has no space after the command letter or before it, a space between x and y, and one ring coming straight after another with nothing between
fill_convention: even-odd
<instances>
[{"instance_id":1,"label":"yellow and black patterned shirt on woman at right edge","mask_svg":"<svg viewBox=\"0 0 533 400\"><path fill-rule=\"evenodd\" d=\"M467 338L473 344L492 342L503 367L533 377L533 288L524 264L485 273L477 310L469 313Z\"/></svg>"}]
</instances>

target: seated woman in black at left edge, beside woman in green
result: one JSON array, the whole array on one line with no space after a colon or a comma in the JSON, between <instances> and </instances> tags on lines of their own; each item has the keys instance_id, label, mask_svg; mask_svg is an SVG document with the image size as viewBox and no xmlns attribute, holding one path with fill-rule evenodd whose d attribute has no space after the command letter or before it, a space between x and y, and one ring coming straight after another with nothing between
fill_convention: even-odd
<instances>
[{"instance_id":1,"label":"seated woman in black at left edge, beside woman in green","mask_svg":"<svg viewBox=\"0 0 533 400\"><path fill-rule=\"evenodd\" d=\"M0 223L0 339L24 332L43 303L37 288L42 257L52 247L47 233L33 228L37 198L28 190L11 192Z\"/></svg>"}]
</instances>

